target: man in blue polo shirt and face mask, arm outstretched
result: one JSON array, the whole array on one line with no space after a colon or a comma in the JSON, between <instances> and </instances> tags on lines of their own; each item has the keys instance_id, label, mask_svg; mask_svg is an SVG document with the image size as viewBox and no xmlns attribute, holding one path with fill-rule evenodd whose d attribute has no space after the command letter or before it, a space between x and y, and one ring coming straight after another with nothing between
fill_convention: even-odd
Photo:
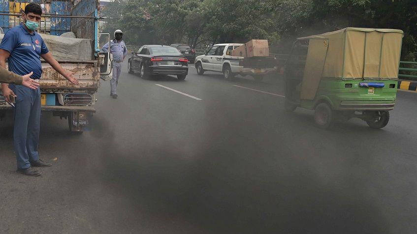
<instances>
[{"instance_id":1,"label":"man in blue polo shirt and face mask, arm outstretched","mask_svg":"<svg viewBox=\"0 0 417 234\"><path fill-rule=\"evenodd\" d=\"M62 68L49 52L42 37L36 33L41 20L42 9L38 4L26 5L22 13L24 24L16 26L4 35L0 44L0 66L25 75L33 72L32 78L42 76L40 57L45 59L56 71L70 83L78 85L78 80ZM20 85L1 84L4 98L10 102L10 95L15 97L14 109L14 147L17 157L17 172L37 176L41 172L32 167L49 167L51 164L39 159L38 141L40 130L40 89L30 89Z\"/></svg>"}]
</instances>

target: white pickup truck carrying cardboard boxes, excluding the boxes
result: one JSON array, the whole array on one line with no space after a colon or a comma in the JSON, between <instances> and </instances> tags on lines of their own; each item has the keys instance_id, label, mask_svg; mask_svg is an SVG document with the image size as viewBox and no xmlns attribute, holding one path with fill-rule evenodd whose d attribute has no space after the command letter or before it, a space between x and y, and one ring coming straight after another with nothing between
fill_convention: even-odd
<instances>
[{"instance_id":1,"label":"white pickup truck carrying cardboard boxes, excluding the boxes","mask_svg":"<svg viewBox=\"0 0 417 234\"><path fill-rule=\"evenodd\" d=\"M269 72L277 70L277 60L274 57L233 57L231 51L242 44L229 43L214 45L205 55L195 58L195 69L198 75L205 71L222 72L226 79L233 79L235 75L251 75L261 81Z\"/></svg>"}]
</instances>

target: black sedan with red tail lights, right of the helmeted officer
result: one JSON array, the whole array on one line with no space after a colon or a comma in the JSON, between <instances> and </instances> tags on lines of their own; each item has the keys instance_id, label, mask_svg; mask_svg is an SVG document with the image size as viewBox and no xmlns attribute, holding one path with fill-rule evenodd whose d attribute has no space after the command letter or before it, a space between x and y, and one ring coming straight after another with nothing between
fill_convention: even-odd
<instances>
[{"instance_id":1,"label":"black sedan with red tail lights, right of the helmeted officer","mask_svg":"<svg viewBox=\"0 0 417 234\"><path fill-rule=\"evenodd\" d=\"M188 59L176 48L161 45L144 45L128 60L128 72L139 73L145 79L151 75L176 75L184 80L188 75Z\"/></svg>"}]
</instances>

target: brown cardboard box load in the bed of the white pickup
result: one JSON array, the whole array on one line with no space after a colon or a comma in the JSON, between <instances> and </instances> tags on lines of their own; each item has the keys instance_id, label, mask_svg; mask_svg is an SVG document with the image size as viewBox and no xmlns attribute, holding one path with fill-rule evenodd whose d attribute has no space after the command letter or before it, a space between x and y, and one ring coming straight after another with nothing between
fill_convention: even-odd
<instances>
[{"instance_id":1,"label":"brown cardboard box load in the bed of the white pickup","mask_svg":"<svg viewBox=\"0 0 417 234\"><path fill-rule=\"evenodd\" d=\"M268 40L250 40L232 50L232 56L237 57L268 57L269 45Z\"/></svg>"}]
</instances>

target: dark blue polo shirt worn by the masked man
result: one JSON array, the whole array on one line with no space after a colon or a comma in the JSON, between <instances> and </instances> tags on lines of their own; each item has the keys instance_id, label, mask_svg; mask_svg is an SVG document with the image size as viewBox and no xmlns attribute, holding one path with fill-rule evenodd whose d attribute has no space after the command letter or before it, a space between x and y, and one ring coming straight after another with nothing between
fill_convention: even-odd
<instances>
[{"instance_id":1,"label":"dark blue polo shirt worn by the masked man","mask_svg":"<svg viewBox=\"0 0 417 234\"><path fill-rule=\"evenodd\" d=\"M48 53L49 50L38 33L30 34L23 24L20 24L6 32L1 40L0 49L10 52L7 59L9 71L21 76L33 72L33 79L42 76L40 55Z\"/></svg>"}]
</instances>

